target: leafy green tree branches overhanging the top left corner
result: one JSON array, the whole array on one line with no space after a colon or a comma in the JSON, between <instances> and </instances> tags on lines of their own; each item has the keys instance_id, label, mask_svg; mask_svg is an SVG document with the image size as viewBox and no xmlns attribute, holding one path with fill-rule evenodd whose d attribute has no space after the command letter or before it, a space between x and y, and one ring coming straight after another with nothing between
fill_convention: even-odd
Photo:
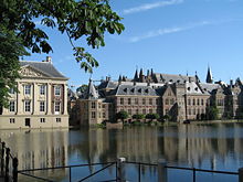
<instances>
[{"instance_id":1,"label":"leafy green tree branches overhanging the top left corner","mask_svg":"<svg viewBox=\"0 0 243 182\"><path fill-rule=\"evenodd\" d=\"M42 29L36 26L40 20ZM0 3L0 105L7 106L8 90L19 77L19 57L32 53L49 53L45 28L66 34L81 68L93 72L98 62L83 46L75 45L84 38L93 49L105 46L104 34L124 30L122 18L108 0L3 0ZM83 39L82 39L83 40ZM11 42L11 43L10 43ZM6 46L6 44L8 46ZM8 54L10 53L11 54Z\"/></svg>"}]
</instances>

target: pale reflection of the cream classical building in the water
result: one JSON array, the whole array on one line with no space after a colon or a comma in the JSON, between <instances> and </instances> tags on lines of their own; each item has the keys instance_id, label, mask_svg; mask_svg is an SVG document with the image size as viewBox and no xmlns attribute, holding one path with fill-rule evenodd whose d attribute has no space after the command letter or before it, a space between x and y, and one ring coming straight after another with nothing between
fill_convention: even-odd
<instances>
[{"instance_id":1,"label":"pale reflection of the cream classical building in the water","mask_svg":"<svg viewBox=\"0 0 243 182\"><path fill-rule=\"evenodd\" d=\"M2 132L1 139L19 159L19 170L67 164L68 130L12 130ZM36 171L32 174L61 180L66 176L66 171L62 169L55 173L53 170L47 170ZM23 175L20 174L19 178L25 181Z\"/></svg>"}]
</instances>

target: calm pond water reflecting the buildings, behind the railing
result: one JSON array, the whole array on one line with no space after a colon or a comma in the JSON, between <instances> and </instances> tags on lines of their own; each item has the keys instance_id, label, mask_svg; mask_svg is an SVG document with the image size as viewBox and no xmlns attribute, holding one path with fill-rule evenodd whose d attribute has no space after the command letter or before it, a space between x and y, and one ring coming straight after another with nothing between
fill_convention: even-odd
<instances>
[{"instance_id":1,"label":"calm pond water reflecting the buildings, behind the railing","mask_svg":"<svg viewBox=\"0 0 243 182\"><path fill-rule=\"evenodd\" d=\"M237 171L243 167L243 124L181 125L175 127L127 127L124 129L81 130L1 130L0 137L14 150L19 169L115 161L169 164L210 170ZM126 176L137 181L138 168L126 164ZM72 181L78 181L102 167L72 169ZM142 181L156 181L155 168L145 167ZM192 181L192 172L169 170L170 182ZM34 172L55 181L67 181L68 170ZM19 175L21 181L33 179ZM112 180L115 169L108 168L89 181ZM197 181L232 181L228 174L197 173Z\"/></svg>"}]
</instances>

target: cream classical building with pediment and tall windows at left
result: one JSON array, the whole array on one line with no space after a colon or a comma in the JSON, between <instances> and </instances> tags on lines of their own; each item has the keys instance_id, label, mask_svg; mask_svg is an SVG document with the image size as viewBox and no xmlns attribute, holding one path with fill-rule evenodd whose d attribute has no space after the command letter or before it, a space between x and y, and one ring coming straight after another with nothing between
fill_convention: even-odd
<instances>
[{"instance_id":1,"label":"cream classical building with pediment and tall windows at left","mask_svg":"<svg viewBox=\"0 0 243 182\"><path fill-rule=\"evenodd\" d=\"M10 89L10 106L0 115L0 129L68 127L67 77L52 64L20 62L19 93Z\"/></svg>"}]
</instances>

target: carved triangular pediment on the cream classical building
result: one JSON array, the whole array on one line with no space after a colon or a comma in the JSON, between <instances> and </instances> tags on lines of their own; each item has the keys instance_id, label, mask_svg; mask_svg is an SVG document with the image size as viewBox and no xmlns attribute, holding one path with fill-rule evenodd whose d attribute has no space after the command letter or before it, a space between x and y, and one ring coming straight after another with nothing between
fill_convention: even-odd
<instances>
[{"instance_id":1,"label":"carved triangular pediment on the cream classical building","mask_svg":"<svg viewBox=\"0 0 243 182\"><path fill-rule=\"evenodd\" d=\"M29 65L21 67L19 73L23 77L50 77L49 75L29 66Z\"/></svg>"}]
</instances>

